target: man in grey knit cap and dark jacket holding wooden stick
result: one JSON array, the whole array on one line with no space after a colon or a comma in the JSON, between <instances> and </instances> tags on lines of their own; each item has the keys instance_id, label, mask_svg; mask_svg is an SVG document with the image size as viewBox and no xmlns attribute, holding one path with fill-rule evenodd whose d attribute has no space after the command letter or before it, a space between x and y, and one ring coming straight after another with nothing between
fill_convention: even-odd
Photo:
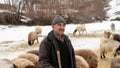
<instances>
[{"instance_id":1,"label":"man in grey knit cap and dark jacket holding wooden stick","mask_svg":"<svg viewBox=\"0 0 120 68\"><path fill-rule=\"evenodd\" d=\"M65 25L63 17L55 16L53 30L40 44L40 68L76 68L74 49L69 38L64 35Z\"/></svg>"}]
</instances>

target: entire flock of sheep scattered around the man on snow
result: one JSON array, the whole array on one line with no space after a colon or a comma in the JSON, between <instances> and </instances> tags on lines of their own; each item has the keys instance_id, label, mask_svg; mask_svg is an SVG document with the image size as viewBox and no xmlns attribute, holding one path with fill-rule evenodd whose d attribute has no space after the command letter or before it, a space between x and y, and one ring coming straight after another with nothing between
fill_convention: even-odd
<instances>
[{"instance_id":1,"label":"entire flock of sheep scattered around the man on snow","mask_svg":"<svg viewBox=\"0 0 120 68\"><path fill-rule=\"evenodd\" d=\"M82 28L78 28L82 27ZM73 34L75 35L75 32L80 31L84 32L86 31L85 25L78 26ZM34 41L37 40L38 43L38 34L41 33L41 28L37 26L35 28L35 31L30 32L28 35L28 44L32 45L34 44ZM114 34L110 32L109 30L104 31L104 38L101 39L100 42L100 56L96 54L93 50L90 49L80 49L75 50L75 58L76 58L76 64L77 68L97 68L99 57L104 60L104 58L107 58L107 53L111 52L113 59L111 61L111 68L120 68L120 35ZM28 51L25 54L19 55L17 58L13 60L9 59L1 59L0 60L0 66L1 68L40 68L39 62L38 62L38 50L32 50Z\"/></svg>"}]
</instances>

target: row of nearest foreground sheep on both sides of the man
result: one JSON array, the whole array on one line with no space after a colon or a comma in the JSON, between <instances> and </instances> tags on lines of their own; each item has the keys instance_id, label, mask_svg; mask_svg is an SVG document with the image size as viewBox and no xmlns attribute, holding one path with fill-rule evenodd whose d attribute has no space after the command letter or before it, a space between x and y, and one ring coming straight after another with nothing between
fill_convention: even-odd
<instances>
[{"instance_id":1,"label":"row of nearest foreground sheep on both sides of the man","mask_svg":"<svg viewBox=\"0 0 120 68\"><path fill-rule=\"evenodd\" d=\"M31 50L19 55L13 60L1 59L1 68L40 68L38 62L38 50ZM75 51L77 68L97 68L98 57L94 51L81 49Z\"/></svg>"}]
</instances>

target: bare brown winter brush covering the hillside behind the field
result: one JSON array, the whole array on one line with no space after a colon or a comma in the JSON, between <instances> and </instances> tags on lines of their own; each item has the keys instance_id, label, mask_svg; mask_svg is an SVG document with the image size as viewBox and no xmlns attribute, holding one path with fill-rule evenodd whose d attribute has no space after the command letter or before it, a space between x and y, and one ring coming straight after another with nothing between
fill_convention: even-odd
<instances>
[{"instance_id":1,"label":"bare brown winter brush covering the hillside behind the field","mask_svg":"<svg viewBox=\"0 0 120 68\"><path fill-rule=\"evenodd\" d=\"M92 23L105 20L104 7L109 0L2 0L1 24L49 25L55 15L67 23ZM8 13L9 12L9 13ZM3 20L4 19L4 20Z\"/></svg>"}]
</instances>

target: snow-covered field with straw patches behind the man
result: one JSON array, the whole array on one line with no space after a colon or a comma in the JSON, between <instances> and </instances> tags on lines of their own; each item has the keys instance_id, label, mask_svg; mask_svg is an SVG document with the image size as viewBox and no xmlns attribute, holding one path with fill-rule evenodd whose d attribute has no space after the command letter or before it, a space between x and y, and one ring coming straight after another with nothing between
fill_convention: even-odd
<instances>
[{"instance_id":1,"label":"snow-covered field with straw patches behind the man","mask_svg":"<svg viewBox=\"0 0 120 68\"><path fill-rule=\"evenodd\" d=\"M110 24L114 23L116 32L119 33L119 21L103 21L85 24L87 34L103 34L104 30L111 30ZM73 47L77 49L92 49L99 50L100 39L103 37L76 37L72 33L74 29L80 24L67 24L65 34L69 36ZM35 42L33 46L27 43L28 33L34 31L35 26L3 26L0 25L0 58L13 59L19 54L25 53L29 50L39 49L42 39L52 30L51 26L41 26L43 37L39 37L39 44ZM78 34L78 33L76 33Z\"/></svg>"}]
</instances>

